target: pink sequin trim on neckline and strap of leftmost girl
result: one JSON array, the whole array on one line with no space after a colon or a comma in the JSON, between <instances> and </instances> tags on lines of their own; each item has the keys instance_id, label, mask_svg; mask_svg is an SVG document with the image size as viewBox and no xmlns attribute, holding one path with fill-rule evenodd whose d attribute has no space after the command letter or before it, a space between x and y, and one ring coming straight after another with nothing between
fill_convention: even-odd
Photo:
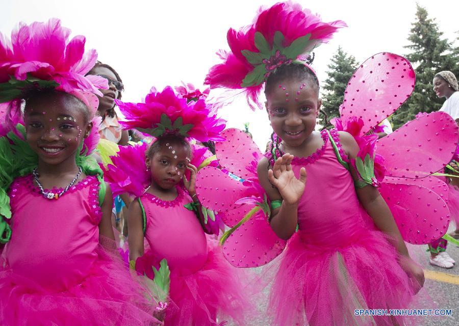
<instances>
[{"instance_id":1,"label":"pink sequin trim on neckline and strap of leftmost girl","mask_svg":"<svg viewBox=\"0 0 459 326\"><path fill-rule=\"evenodd\" d=\"M97 180L96 176L92 176L92 175L86 176L85 179L81 180L77 184L68 188L68 191L64 193L62 196L65 196L69 193L74 193L87 186L90 186L89 196L88 196L88 203L89 203L89 206L91 208L91 213L92 213L90 215L90 219L94 224L98 225L100 223L100 220L102 219L102 210L99 206L99 181ZM31 194L35 197L43 197L43 195L40 192L40 189L37 186L35 186L32 175L30 174L27 176L19 177L13 182L11 186L11 190L10 190L10 203L11 204L15 201L18 189L20 187L29 189ZM53 187L53 189L44 189L45 192L51 191L54 193L62 192L63 190L64 188L57 188L57 187Z\"/></svg>"}]
</instances>

